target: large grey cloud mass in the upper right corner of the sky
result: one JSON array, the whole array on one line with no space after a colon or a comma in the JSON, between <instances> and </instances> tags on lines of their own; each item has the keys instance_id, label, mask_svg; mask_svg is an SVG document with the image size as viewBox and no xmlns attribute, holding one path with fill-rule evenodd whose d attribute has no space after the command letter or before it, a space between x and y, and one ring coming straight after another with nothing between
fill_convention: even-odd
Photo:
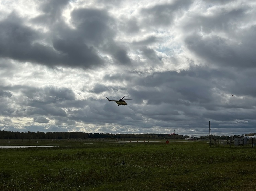
<instances>
[{"instance_id":1,"label":"large grey cloud mass in the upper right corner of the sky","mask_svg":"<svg viewBox=\"0 0 256 191\"><path fill-rule=\"evenodd\" d=\"M244 5L215 10L216 14L192 15L183 26L184 31L192 32L185 35L186 46L211 65L254 67L256 46L252 42L256 39L256 27L243 27L249 21L247 13L252 10Z\"/></svg>"}]
</instances>

